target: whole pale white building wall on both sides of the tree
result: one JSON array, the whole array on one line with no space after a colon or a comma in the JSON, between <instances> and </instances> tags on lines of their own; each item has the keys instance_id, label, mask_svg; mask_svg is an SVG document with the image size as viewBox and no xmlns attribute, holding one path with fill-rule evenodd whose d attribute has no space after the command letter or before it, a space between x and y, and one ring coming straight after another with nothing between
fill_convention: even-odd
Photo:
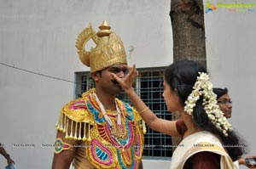
<instances>
[{"instance_id":1,"label":"whole pale white building wall on both sides of the tree","mask_svg":"<svg viewBox=\"0 0 256 169\"><path fill-rule=\"evenodd\" d=\"M212 2L212 1L211 1ZM214 1L212 3L215 3ZM65 82L0 65L0 142L17 168L50 168L55 121L73 99L74 72L88 70L79 61L75 41L91 22L107 20L122 38L131 63L154 67L172 63L170 0L29 1L0 0L0 62L55 76ZM229 87L234 100L232 122L256 154L253 134L255 100L255 14L217 10L206 14L208 68L214 84ZM253 78L254 77L254 78ZM255 127L254 127L255 128ZM13 147L32 144L32 147ZM144 161L145 168L154 168ZM157 166L168 168L169 161ZM0 167L5 166L0 157ZM151 167L150 167L151 166Z\"/></svg>"}]
</instances>

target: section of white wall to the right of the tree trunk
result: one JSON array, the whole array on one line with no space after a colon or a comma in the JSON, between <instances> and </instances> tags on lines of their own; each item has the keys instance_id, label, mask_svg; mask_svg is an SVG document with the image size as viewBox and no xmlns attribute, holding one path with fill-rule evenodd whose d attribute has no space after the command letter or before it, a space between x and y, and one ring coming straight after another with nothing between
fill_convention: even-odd
<instances>
[{"instance_id":1,"label":"section of white wall to the right of the tree trunk","mask_svg":"<svg viewBox=\"0 0 256 169\"><path fill-rule=\"evenodd\" d=\"M211 1L214 5L218 2ZM256 4L256 1L241 2ZM256 114L253 108L256 101L255 23L256 8L253 12L230 12L227 8L217 8L205 14L207 68L214 86L229 89L233 100L230 122L245 139L249 155L256 155Z\"/></svg>"}]
</instances>

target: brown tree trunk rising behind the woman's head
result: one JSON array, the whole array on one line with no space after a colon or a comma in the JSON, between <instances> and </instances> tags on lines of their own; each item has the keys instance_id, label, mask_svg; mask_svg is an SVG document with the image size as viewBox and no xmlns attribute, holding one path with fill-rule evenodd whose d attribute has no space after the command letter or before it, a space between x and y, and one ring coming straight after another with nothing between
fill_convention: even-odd
<instances>
[{"instance_id":1,"label":"brown tree trunk rising behind the woman's head","mask_svg":"<svg viewBox=\"0 0 256 169\"><path fill-rule=\"evenodd\" d=\"M204 8L202 0L171 0L173 62L195 60L207 67ZM172 113L172 120L179 116ZM177 145L180 138L172 137ZM173 147L175 149L175 146ZM174 150L173 149L173 150Z\"/></svg>"}]
</instances>

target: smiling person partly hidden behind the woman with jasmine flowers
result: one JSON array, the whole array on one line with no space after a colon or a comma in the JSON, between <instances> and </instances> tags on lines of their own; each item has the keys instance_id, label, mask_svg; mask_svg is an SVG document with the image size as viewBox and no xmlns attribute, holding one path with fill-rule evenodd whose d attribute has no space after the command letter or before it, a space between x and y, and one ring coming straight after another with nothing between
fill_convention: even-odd
<instances>
[{"instance_id":1,"label":"smiling person partly hidden behind the woman with jasmine flowers","mask_svg":"<svg viewBox=\"0 0 256 169\"><path fill-rule=\"evenodd\" d=\"M220 110L224 113L226 118L231 118L232 116L232 100L230 99L230 95L228 93L228 88L213 88L213 93L217 95L217 102ZM239 165L247 166L246 159L254 158L256 159L256 155L250 155L245 158L238 159ZM247 166L248 168L255 168L256 166Z\"/></svg>"}]
</instances>

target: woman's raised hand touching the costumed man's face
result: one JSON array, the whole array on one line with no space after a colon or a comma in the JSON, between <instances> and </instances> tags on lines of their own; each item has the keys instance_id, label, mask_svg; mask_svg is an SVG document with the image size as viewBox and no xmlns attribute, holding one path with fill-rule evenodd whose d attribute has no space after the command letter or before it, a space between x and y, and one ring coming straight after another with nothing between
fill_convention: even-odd
<instances>
[{"instance_id":1,"label":"woman's raised hand touching the costumed man's face","mask_svg":"<svg viewBox=\"0 0 256 169\"><path fill-rule=\"evenodd\" d=\"M133 90L132 84L137 78L138 72L135 65L133 65L132 67L125 65L125 67L129 70L129 73L125 77L119 78L119 76L116 76L113 73L111 75L117 82L119 82L119 85L125 90L125 92L128 92L131 89Z\"/></svg>"}]
</instances>

